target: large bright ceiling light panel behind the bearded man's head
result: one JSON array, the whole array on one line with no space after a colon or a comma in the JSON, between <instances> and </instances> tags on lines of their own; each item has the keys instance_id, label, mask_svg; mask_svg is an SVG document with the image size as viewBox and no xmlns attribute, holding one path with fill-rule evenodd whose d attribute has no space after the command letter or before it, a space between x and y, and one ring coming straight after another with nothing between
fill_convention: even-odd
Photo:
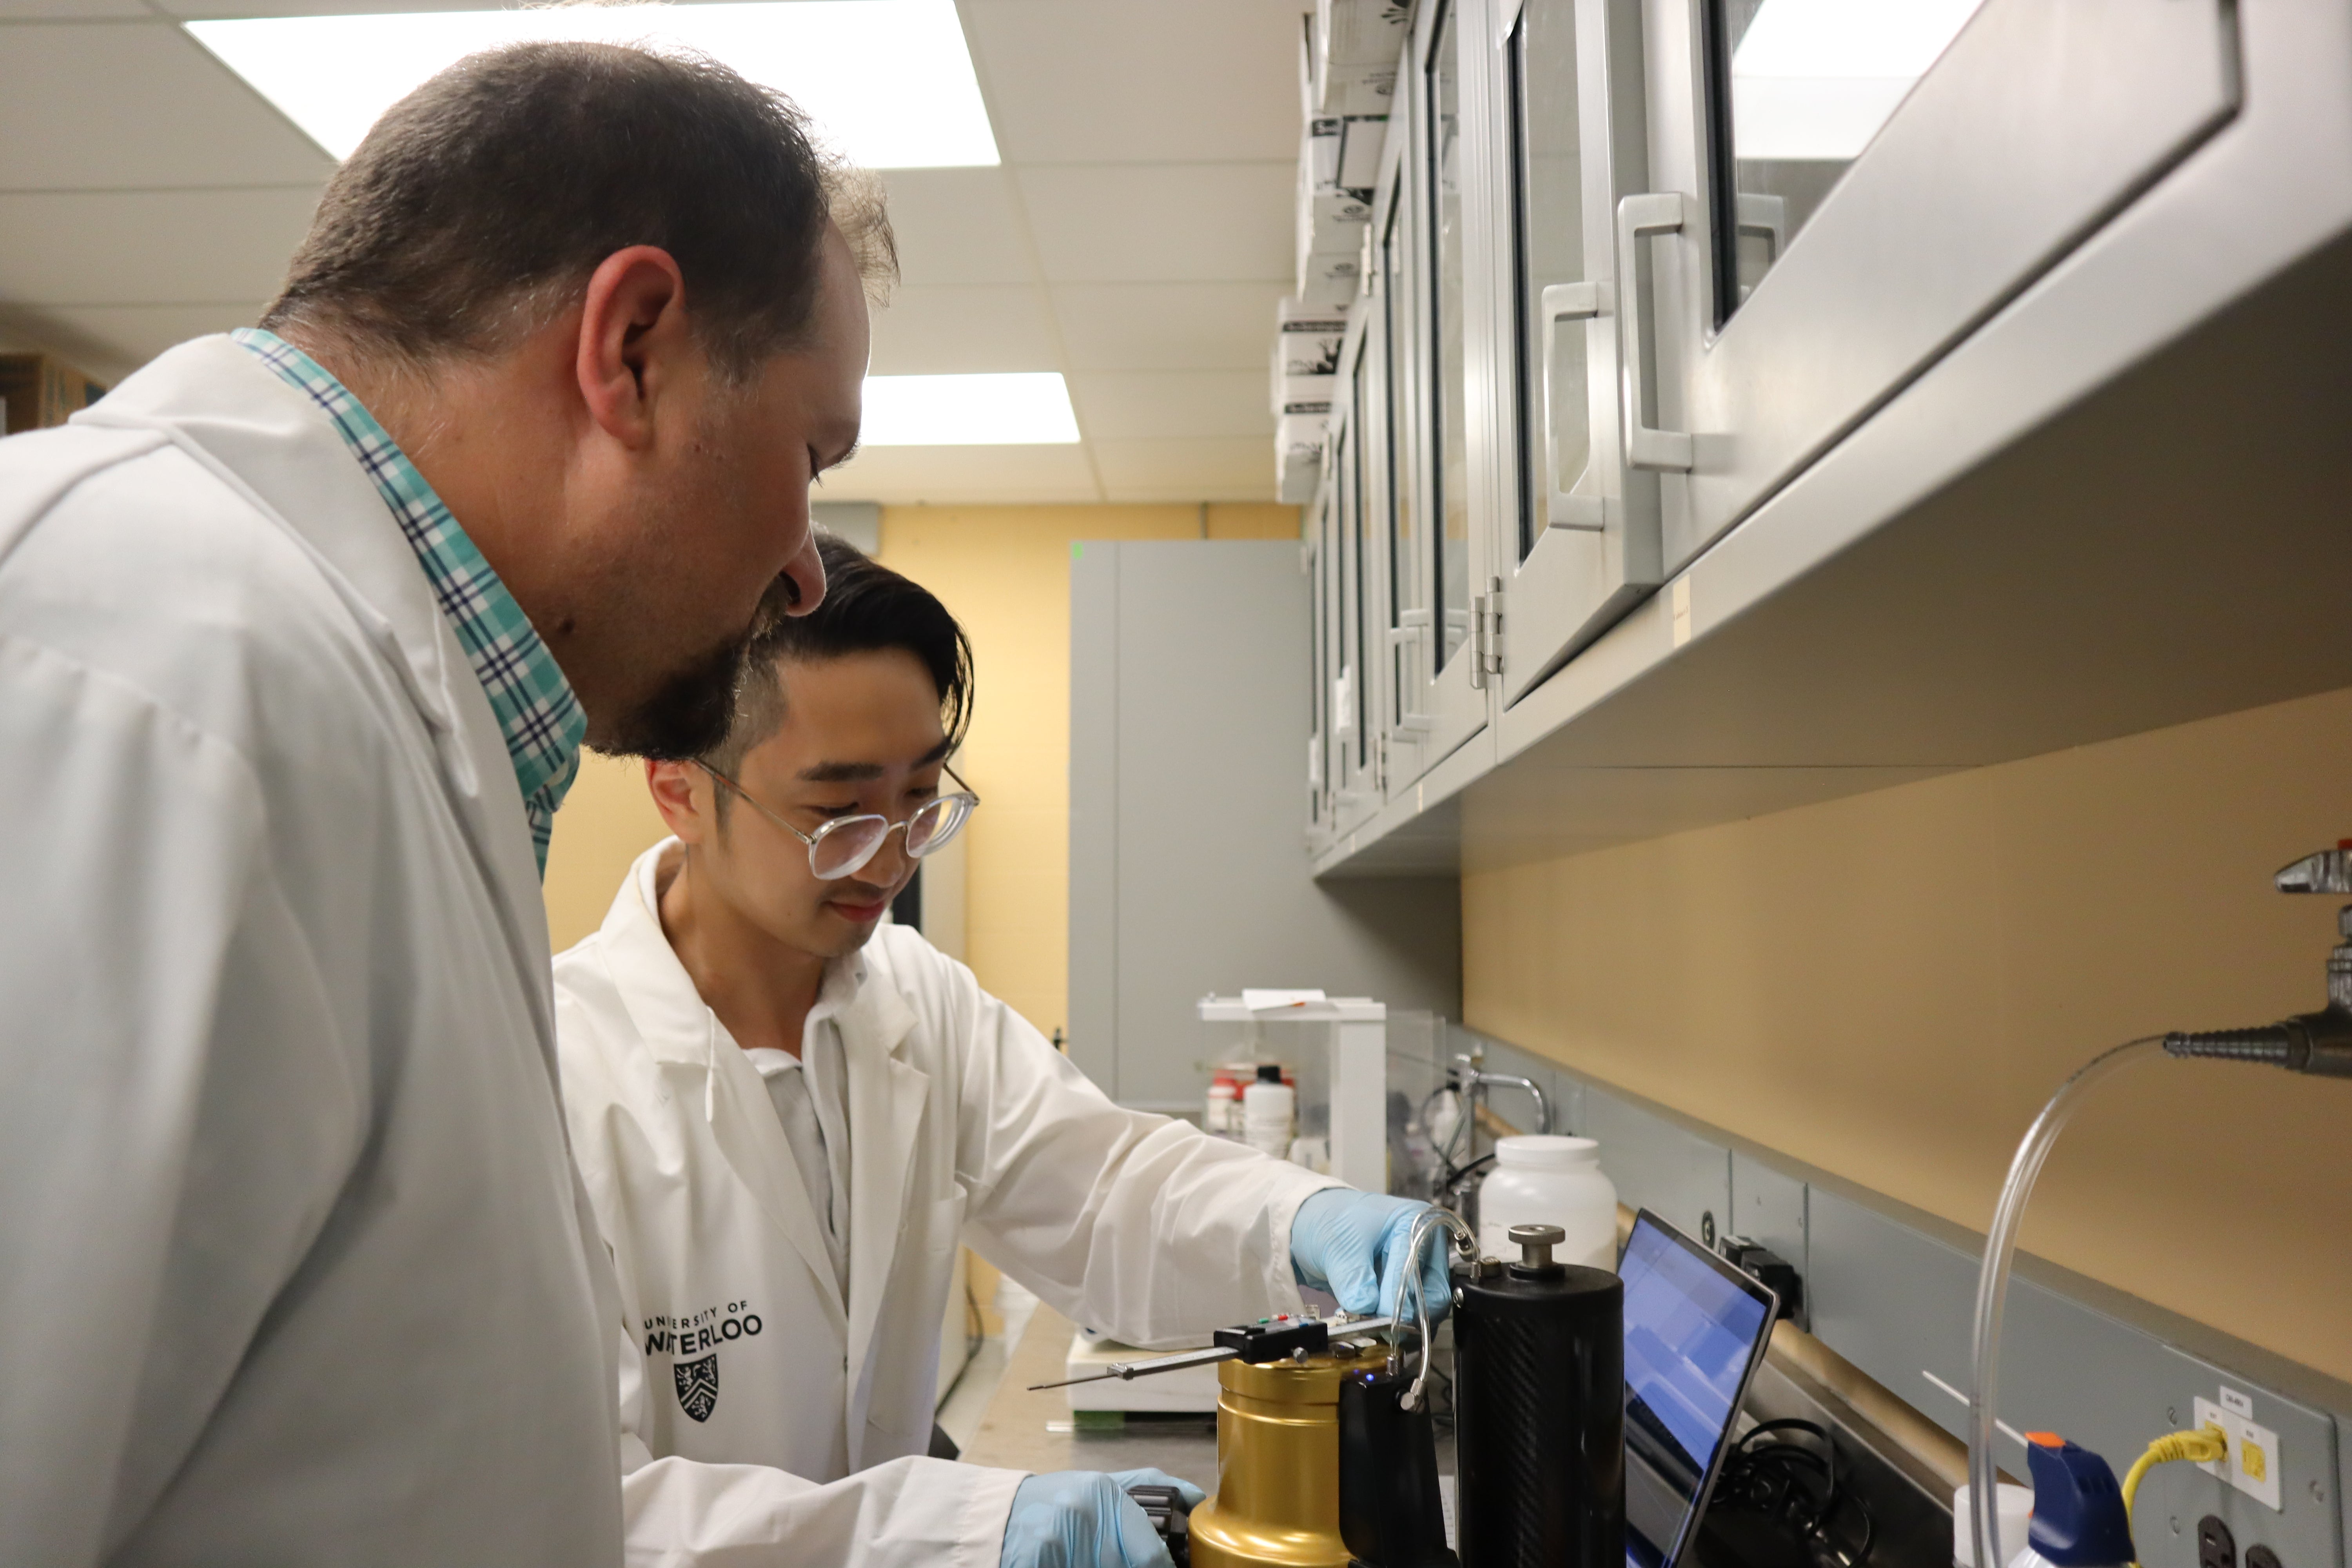
<instances>
[{"instance_id":1,"label":"large bright ceiling light panel behind the bearded man's head","mask_svg":"<svg viewBox=\"0 0 2352 1568\"><path fill-rule=\"evenodd\" d=\"M336 158L350 158L386 108L468 54L576 40L724 61L800 103L821 141L868 169L997 162L955 0L557 5L183 26Z\"/></svg>"}]
</instances>

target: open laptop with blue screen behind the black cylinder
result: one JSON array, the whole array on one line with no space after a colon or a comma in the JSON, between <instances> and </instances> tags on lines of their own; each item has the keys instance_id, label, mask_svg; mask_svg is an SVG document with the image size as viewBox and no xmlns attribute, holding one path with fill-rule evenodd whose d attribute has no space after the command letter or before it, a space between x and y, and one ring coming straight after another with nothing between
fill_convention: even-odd
<instances>
[{"instance_id":1,"label":"open laptop with blue screen behind the black cylinder","mask_svg":"<svg viewBox=\"0 0 2352 1568\"><path fill-rule=\"evenodd\" d=\"M1780 1300L1649 1213L1625 1253L1625 1568L1675 1568L1698 1535Z\"/></svg>"}]
</instances>

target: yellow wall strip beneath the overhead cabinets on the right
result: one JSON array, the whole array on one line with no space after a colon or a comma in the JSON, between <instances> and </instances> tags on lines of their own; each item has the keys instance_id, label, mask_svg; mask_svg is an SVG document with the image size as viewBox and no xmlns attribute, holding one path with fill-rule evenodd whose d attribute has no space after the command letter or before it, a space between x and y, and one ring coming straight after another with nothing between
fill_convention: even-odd
<instances>
[{"instance_id":1,"label":"yellow wall strip beneath the overhead cabinets on the right","mask_svg":"<svg viewBox=\"0 0 2352 1568\"><path fill-rule=\"evenodd\" d=\"M2326 1001L2352 691L1463 879L1472 1027L1983 1229L2096 1051ZM2157 1060L2025 1246L2352 1378L2352 1081Z\"/></svg>"}]
</instances>

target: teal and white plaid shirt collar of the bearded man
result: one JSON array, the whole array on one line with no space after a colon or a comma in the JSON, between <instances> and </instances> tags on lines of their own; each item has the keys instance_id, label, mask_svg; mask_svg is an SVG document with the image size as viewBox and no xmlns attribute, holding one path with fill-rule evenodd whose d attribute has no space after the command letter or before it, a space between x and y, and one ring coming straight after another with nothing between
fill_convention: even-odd
<instances>
[{"instance_id":1,"label":"teal and white plaid shirt collar of the bearded man","mask_svg":"<svg viewBox=\"0 0 2352 1568\"><path fill-rule=\"evenodd\" d=\"M466 661L482 682L489 710L499 717L506 757L515 764L515 783L522 785L522 811L532 820L539 875L546 877L555 809L579 778L581 738L588 733L588 715L581 712L572 682L459 520L376 416L360 407L350 388L273 331L240 327L228 336L327 411L350 456L360 458L360 468L374 480L400 534L416 550L416 564L426 569L433 597L440 599L442 616L449 618Z\"/></svg>"}]
</instances>

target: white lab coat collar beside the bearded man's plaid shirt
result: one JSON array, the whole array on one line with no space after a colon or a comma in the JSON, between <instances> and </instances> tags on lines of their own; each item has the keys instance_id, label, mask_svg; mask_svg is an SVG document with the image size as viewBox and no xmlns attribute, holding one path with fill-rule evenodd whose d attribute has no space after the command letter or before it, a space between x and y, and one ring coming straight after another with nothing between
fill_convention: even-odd
<instances>
[{"instance_id":1,"label":"white lab coat collar beside the bearded man's plaid shirt","mask_svg":"<svg viewBox=\"0 0 2352 1568\"><path fill-rule=\"evenodd\" d=\"M548 910L506 738L416 552L327 414L228 336L209 336L165 350L73 421L169 437L285 527L383 654L499 896L553 1074Z\"/></svg>"}]
</instances>

